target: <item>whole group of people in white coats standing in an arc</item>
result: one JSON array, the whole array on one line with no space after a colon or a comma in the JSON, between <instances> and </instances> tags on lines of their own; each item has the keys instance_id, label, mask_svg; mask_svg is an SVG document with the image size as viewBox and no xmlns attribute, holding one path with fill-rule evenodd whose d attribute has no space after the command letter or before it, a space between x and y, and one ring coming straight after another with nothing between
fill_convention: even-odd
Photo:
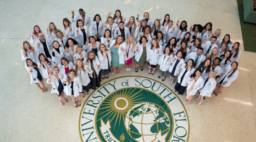
<instances>
[{"instance_id":1,"label":"whole group of people in white coats standing in an arc","mask_svg":"<svg viewBox=\"0 0 256 142\"><path fill-rule=\"evenodd\" d=\"M47 34L34 26L30 43L36 49L24 41L21 50L31 84L36 83L42 92L47 92L43 82L47 78L46 82L52 84L51 93L59 96L61 105L64 105L62 99L68 102L65 92L74 106L80 107L81 96L88 95L89 89L100 87L101 80L109 78L108 73L120 74L124 65L130 71L133 57L135 72L138 68L142 71L147 61L148 75L153 76L159 66L158 78L162 77L162 81L168 72L169 84L177 76L175 92L182 95L187 88L186 104L191 103L198 91L197 99L201 99L198 104L202 104L205 97L212 93L219 95L223 87L230 86L238 77L240 43L231 43L229 34L220 39L221 30L212 32L210 22L204 26L193 24L187 29L186 21L178 20L174 26L169 14L154 22L148 12L142 17L137 14L137 24L134 16L126 21L120 10L112 16L109 12L105 22L98 14L91 21L82 9L78 15L74 13L71 11L71 22L75 24L64 18L62 31L53 22L46 28Z\"/></svg>"}]
</instances>

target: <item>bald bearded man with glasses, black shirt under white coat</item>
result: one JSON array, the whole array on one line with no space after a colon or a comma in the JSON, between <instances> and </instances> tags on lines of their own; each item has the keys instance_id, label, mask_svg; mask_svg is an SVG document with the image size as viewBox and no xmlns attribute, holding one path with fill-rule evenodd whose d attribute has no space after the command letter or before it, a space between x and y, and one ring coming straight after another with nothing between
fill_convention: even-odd
<instances>
[{"instance_id":1,"label":"bald bearded man with glasses, black shirt under white coat","mask_svg":"<svg viewBox=\"0 0 256 142\"><path fill-rule=\"evenodd\" d=\"M44 38L43 33L38 34L39 39L37 40L37 48L36 51L37 53L43 53L46 58L52 59L52 40L49 38Z\"/></svg>"}]
</instances>

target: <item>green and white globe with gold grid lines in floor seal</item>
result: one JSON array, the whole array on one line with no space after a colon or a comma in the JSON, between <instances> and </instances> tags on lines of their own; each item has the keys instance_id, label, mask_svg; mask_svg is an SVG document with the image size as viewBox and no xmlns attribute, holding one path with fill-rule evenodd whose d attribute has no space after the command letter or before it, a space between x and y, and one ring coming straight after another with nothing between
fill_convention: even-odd
<instances>
[{"instance_id":1,"label":"green and white globe with gold grid lines in floor seal","mask_svg":"<svg viewBox=\"0 0 256 142\"><path fill-rule=\"evenodd\" d=\"M159 133L167 134L171 125L166 111L159 105L148 102L134 105L125 118L126 131L138 142L154 141Z\"/></svg>"}]
</instances>

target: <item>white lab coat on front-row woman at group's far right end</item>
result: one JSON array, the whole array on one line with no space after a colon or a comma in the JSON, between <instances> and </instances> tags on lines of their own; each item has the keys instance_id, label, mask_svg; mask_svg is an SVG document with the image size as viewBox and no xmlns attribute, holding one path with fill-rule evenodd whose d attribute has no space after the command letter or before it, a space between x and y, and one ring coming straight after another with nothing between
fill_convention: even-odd
<instances>
[{"instance_id":1,"label":"white lab coat on front-row woman at group's far right end","mask_svg":"<svg viewBox=\"0 0 256 142\"><path fill-rule=\"evenodd\" d=\"M230 69L231 69L231 65L226 66L226 72L224 72L224 73L220 76L220 79L219 79L219 81L218 81L218 83L219 83L220 81L223 80L223 78L225 78L222 83L224 83L224 82L226 82L226 81L227 81L228 83L226 83L225 85L222 85L222 86L224 86L224 87L230 86L231 82L234 81L234 80L236 80L236 78L238 77L239 71L236 70L236 71L234 72L234 74L233 74L230 78L228 78L228 76L230 75L230 73L232 73L232 72L229 73Z\"/></svg>"}]
</instances>

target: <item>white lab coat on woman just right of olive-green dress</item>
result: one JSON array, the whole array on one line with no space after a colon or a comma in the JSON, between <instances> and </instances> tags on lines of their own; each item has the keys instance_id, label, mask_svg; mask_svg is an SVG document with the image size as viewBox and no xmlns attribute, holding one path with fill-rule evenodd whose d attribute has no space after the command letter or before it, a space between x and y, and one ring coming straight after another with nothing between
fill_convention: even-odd
<instances>
[{"instance_id":1,"label":"white lab coat on woman just right of olive-green dress","mask_svg":"<svg viewBox=\"0 0 256 142\"><path fill-rule=\"evenodd\" d=\"M147 54L146 54L146 60L150 60L148 61L150 65L157 65L158 64L158 61L159 61L159 58L160 56L162 55L162 45L159 45L159 53L157 51L157 49L148 49L147 51Z\"/></svg>"}]
</instances>

